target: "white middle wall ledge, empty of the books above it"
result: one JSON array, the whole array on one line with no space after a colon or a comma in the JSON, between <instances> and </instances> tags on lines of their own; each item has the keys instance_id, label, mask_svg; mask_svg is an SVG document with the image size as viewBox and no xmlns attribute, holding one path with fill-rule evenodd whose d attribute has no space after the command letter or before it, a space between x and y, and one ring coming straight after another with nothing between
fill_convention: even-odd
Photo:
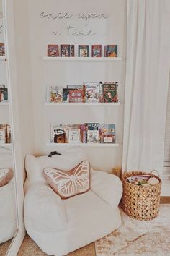
<instances>
[{"instance_id":1,"label":"white middle wall ledge, empty of the books above it","mask_svg":"<svg viewBox=\"0 0 170 256\"><path fill-rule=\"evenodd\" d=\"M45 103L45 106L119 106L120 102L116 103L98 103L98 102L91 102L91 103L67 103L67 102L61 102L61 103Z\"/></svg>"}]
</instances>

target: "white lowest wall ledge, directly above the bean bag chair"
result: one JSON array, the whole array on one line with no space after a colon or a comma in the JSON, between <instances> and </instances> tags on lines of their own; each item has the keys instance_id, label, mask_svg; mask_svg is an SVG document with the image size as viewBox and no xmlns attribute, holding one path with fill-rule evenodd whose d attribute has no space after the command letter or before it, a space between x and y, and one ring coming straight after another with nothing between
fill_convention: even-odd
<instances>
[{"instance_id":1,"label":"white lowest wall ledge, directly above the bean bag chair","mask_svg":"<svg viewBox=\"0 0 170 256\"><path fill-rule=\"evenodd\" d=\"M82 143L82 144L70 144L70 143L47 143L46 146L49 147L73 147L73 146L80 146L80 147L118 147L118 143Z\"/></svg>"}]
</instances>

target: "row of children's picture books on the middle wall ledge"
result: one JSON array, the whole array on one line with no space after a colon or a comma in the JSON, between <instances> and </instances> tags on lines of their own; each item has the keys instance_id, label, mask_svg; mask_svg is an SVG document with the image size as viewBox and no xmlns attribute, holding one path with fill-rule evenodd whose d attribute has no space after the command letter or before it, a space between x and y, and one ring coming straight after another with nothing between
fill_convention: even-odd
<instances>
[{"instance_id":1,"label":"row of children's picture books on the middle wall ledge","mask_svg":"<svg viewBox=\"0 0 170 256\"><path fill-rule=\"evenodd\" d=\"M117 103L118 82L84 82L82 85L47 86L48 103Z\"/></svg>"}]
</instances>

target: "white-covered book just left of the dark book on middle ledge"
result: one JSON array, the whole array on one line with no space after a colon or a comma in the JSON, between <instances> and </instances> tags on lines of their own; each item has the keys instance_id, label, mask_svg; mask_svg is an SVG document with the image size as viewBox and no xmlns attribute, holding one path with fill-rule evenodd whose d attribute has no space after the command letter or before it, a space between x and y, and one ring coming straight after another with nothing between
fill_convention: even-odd
<instances>
[{"instance_id":1,"label":"white-covered book just left of the dark book on middle ledge","mask_svg":"<svg viewBox=\"0 0 170 256\"><path fill-rule=\"evenodd\" d=\"M99 102L99 82L84 82L86 87L86 102Z\"/></svg>"}]
</instances>

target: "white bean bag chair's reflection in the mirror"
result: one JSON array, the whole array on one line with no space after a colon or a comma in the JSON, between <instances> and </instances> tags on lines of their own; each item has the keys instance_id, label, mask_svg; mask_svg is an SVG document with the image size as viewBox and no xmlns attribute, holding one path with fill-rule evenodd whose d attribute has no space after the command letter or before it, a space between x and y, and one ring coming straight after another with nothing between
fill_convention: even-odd
<instances>
[{"instance_id":1,"label":"white bean bag chair's reflection in the mirror","mask_svg":"<svg viewBox=\"0 0 170 256\"><path fill-rule=\"evenodd\" d=\"M13 170L12 152L0 147L0 168ZM17 231L14 178L0 187L0 244L11 239Z\"/></svg>"}]
</instances>

